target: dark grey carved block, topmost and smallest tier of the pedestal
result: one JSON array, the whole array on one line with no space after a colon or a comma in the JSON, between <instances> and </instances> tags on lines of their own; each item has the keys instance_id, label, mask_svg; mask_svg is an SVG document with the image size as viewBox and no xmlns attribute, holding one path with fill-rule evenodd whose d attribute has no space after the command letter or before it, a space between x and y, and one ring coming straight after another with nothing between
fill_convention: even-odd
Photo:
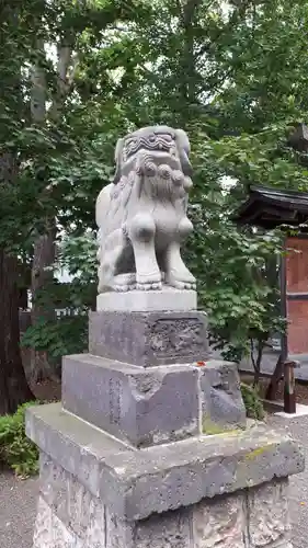
<instances>
[{"instance_id":1,"label":"dark grey carved block, topmost and smallest tier of the pedestal","mask_svg":"<svg viewBox=\"0 0 308 548\"><path fill-rule=\"evenodd\" d=\"M144 367L208 355L204 312L90 312L89 352Z\"/></svg>"}]
</instances>

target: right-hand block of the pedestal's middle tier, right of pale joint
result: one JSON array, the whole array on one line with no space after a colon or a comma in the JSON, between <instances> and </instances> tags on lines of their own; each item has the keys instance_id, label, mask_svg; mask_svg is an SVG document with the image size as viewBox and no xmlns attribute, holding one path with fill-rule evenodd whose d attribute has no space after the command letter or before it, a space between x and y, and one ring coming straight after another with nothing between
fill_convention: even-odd
<instances>
[{"instance_id":1,"label":"right-hand block of the pedestal's middle tier, right of pale joint","mask_svg":"<svg viewBox=\"0 0 308 548\"><path fill-rule=\"evenodd\" d=\"M206 361L201 367L202 429L204 434L246 426L246 409L237 364Z\"/></svg>"}]
</instances>

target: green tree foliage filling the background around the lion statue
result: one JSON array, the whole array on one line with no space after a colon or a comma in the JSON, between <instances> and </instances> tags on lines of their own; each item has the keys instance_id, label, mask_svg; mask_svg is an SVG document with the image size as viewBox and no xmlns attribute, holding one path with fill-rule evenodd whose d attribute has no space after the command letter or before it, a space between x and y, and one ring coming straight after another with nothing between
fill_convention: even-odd
<instances>
[{"instance_id":1,"label":"green tree foliage filling the background around the lion statue","mask_svg":"<svg viewBox=\"0 0 308 548\"><path fill-rule=\"evenodd\" d=\"M231 216L249 184L308 187L307 155L287 146L292 128L308 119L307 2L2 3L0 152L21 161L14 184L0 184L0 243L30 262L46 217L56 217L70 235L58 262L72 282L45 287L36 298L46 307L66 300L80 312L37 322L24 344L55 358L83 346L96 266L94 240L80 235L94 228L94 201L112 175L117 137L167 123L192 140L196 230L185 254L212 342L238 362L252 340L262 350L270 333L285 328L277 292L282 237L239 231ZM42 54L37 36L49 48L62 41L71 46L65 100L57 64ZM43 124L31 115L30 67L45 76L44 103L52 107Z\"/></svg>"}]
</instances>

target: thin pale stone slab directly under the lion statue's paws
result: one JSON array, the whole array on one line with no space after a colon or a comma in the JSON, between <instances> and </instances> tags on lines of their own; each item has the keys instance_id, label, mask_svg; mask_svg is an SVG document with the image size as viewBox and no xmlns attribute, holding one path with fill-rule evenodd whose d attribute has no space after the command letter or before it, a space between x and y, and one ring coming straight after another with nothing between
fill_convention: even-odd
<instances>
[{"instance_id":1,"label":"thin pale stone slab directly under the lion statue's paws","mask_svg":"<svg viewBox=\"0 0 308 548\"><path fill-rule=\"evenodd\" d=\"M96 298L96 310L117 312L161 312L162 310L183 311L196 310L197 294L194 290L180 290L163 286L161 290L151 292L109 292L101 293Z\"/></svg>"}]
</instances>

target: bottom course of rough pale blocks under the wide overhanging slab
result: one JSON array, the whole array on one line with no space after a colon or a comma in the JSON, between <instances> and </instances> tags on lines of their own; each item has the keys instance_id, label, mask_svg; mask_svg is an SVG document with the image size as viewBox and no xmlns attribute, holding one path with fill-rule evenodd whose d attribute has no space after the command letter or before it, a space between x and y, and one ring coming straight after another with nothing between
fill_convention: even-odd
<instances>
[{"instance_id":1,"label":"bottom course of rough pale blocks under the wide overhanging slab","mask_svg":"<svg viewBox=\"0 0 308 548\"><path fill-rule=\"evenodd\" d=\"M47 503L43 494L46 482L58 492L58 478L77 484L68 490L73 495L65 518L56 496ZM34 548L292 548L285 478L129 521L87 490L80 498L83 486L46 456L41 459L41 486Z\"/></svg>"}]
</instances>

